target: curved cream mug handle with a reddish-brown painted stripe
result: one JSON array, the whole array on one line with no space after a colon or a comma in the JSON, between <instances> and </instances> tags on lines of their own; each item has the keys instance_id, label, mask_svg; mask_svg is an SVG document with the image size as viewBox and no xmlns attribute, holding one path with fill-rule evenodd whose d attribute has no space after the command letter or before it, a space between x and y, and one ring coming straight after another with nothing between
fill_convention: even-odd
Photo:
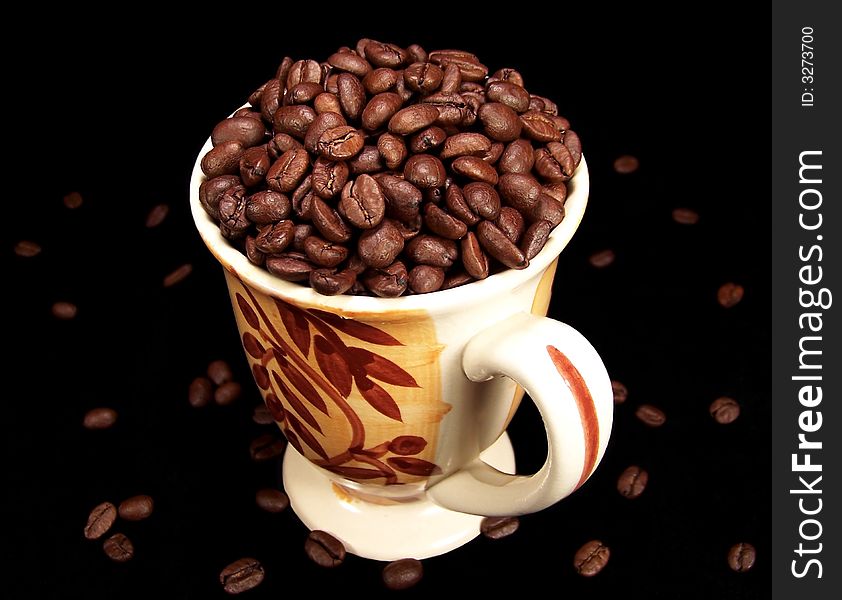
<instances>
[{"instance_id":1,"label":"curved cream mug handle with a reddish-brown painted stripe","mask_svg":"<svg viewBox=\"0 0 842 600\"><path fill-rule=\"evenodd\" d=\"M483 516L537 512L578 489L605 453L614 412L611 380L594 347L553 319L518 313L476 334L462 353L472 381L506 375L538 407L548 456L534 475L509 475L479 458L436 483L428 496Z\"/></svg>"}]
</instances>

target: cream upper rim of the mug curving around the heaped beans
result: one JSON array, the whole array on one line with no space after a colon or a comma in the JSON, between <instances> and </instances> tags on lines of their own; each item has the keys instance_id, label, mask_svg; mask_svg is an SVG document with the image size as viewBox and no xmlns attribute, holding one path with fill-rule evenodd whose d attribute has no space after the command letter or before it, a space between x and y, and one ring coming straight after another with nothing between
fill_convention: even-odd
<instances>
[{"instance_id":1,"label":"cream upper rim of the mug curving around the heaped beans","mask_svg":"<svg viewBox=\"0 0 842 600\"><path fill-rule=\"evenodd\" d=\"M202 172L202 157L213 147L208 137L190 176L190 210L193 222L202 241L222 264L226 271L243 283L269 296L282 298L294 304L318 306L340 313L383 313L392 311L437 312L437 309L453 306L470 305L516 289L532 277L542 273L555 260L570 242L579 227L588 203L590 178L584 155L567 183L567 197L564 202L565 216L550 234L541 251L529 261L525 269L506 269L485 279L472 281L447 290L438 290L426 294L380 298L377 296L357 296L339 294L326 296L316 292L308 285L285 281L266 269L251 262L245 254L231 245L219 230L219 225L211 218L199 202L199 186L207 177Z\"/></svg>"}]
</instances>

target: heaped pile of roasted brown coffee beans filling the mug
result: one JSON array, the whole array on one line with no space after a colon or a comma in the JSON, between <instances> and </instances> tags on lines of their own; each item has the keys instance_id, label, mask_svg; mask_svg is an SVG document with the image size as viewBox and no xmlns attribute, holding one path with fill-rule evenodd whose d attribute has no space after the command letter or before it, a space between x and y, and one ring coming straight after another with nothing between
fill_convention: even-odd
<instances>
[{"instance_id":1,"label":"heaped pile of roasted brown coffee beans filling the mug","mask_svg":"<svg viewBox=\"0 0 842 600\"><path fill-rule=\"evenodd\" d=\"M369 39L287 57L220 122L199 198L253 264L328 295L523 269L564 218L579 137L514 69Z\"/></svg>"}]
</instances>

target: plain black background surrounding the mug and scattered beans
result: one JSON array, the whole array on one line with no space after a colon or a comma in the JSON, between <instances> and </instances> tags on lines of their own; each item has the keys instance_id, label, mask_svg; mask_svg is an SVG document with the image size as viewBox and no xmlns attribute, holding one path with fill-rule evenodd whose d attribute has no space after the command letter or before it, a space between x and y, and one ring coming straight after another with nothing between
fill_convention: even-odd
<instances>
[{"instance_id":1,"label":"plain black background surrounding the mug and scattered beans","mask_svg":"<svg viewBox=\"0 0 842 600\"><path fill-rule=\"evenodd\" d=\"M4 49L15 132L5 140L13 157L2 259L4 378L14 382L3 394L3 542L14 573L3 585L11 595L221 598L219 571L242 556L267 572L249 597L300 587L380 595L381 564L349 557L322 570L305 557L306 529L292 511L271 515L254 504L256 489L280 483L279 463L248 454L250 440L272 429L251 421L259 395L221 268L193 229L187 197L213 125L285 54L323 58L365 36L464 47L492 70L517 68L530 91L557 101L582 138L591 199L561 256L551 316L582 331L630 390L605 458L581 490L523 517L511 538L426 560L424 581L406 596L547 586L570 597L768 598L770 222L759 184L768 134L757 108L765 106L766 42L729 37L750 28L719 22L715 11L671 27L652 15L606 23L608 15L561 8L419 28L336 16L316 32L307 23L326 17L315 6L296 19L280 8L232 10L189 26L127 18L82 27L57 16L55 27L25 25L28 41ZM16 92L19 102L9 97ZM637 156L640 169L614 172L621 154ZM84 204L71 211L61 199L74 190ZM170 214L146 229L159 203ZM700 222L673 222L680 206L697 210ZM14 256L20 239L43 253ZM605 248L615 263L591 267L587 257ZM163 276L185 262L193 274L164 289ZM716 301L726 281L746 289L731 309ZM78 317L54 319L56 300L76 303ZM233 406L193 409L187 385L216 358L231 362L246 393ZM721 395L742 407L731 425L708 414ZM644 402L663 408L663 427L635 418ZM119 411L112 429L82 428L97 406ZM522 472L537 469L545 442L531 403L510 433ZM633 501L616 491L631 464L650 474ZM139 493L155 498L155 513L118 522L136 556L112 563L100 542L82 536L87 514ZM573 554L594 538L611 559L586 579ZM748 573L728 568L737 542L757 547Z\"/></svg>"}]
</instances>

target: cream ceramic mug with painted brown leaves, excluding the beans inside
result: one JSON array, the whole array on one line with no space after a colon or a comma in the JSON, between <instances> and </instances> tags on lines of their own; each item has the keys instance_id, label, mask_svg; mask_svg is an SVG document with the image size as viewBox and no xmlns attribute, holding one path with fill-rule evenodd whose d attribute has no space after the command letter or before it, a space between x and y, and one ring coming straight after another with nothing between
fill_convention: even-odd
<instances>
[{"instance_id":1,"label":"cream ceramic mug with painted brown leaves, excluding the beans inside","mask_svg":"<svg viewBox=\"0 0 842 600\"><path fill-rule=\"evenodd\" d=\"M324 296L252 265L199 202L200 159L193 217L224 267L254 380L289 441L284 487L310 529L361 556L424 558L475 537L483 516L541 510L587 480L611 432L611 383L593 346L545 316L587 204L584 158L527 268L398 298ZM511 474L505 434L524 390L549 448L529 476Z\"/></svg>"}]
</instances>

